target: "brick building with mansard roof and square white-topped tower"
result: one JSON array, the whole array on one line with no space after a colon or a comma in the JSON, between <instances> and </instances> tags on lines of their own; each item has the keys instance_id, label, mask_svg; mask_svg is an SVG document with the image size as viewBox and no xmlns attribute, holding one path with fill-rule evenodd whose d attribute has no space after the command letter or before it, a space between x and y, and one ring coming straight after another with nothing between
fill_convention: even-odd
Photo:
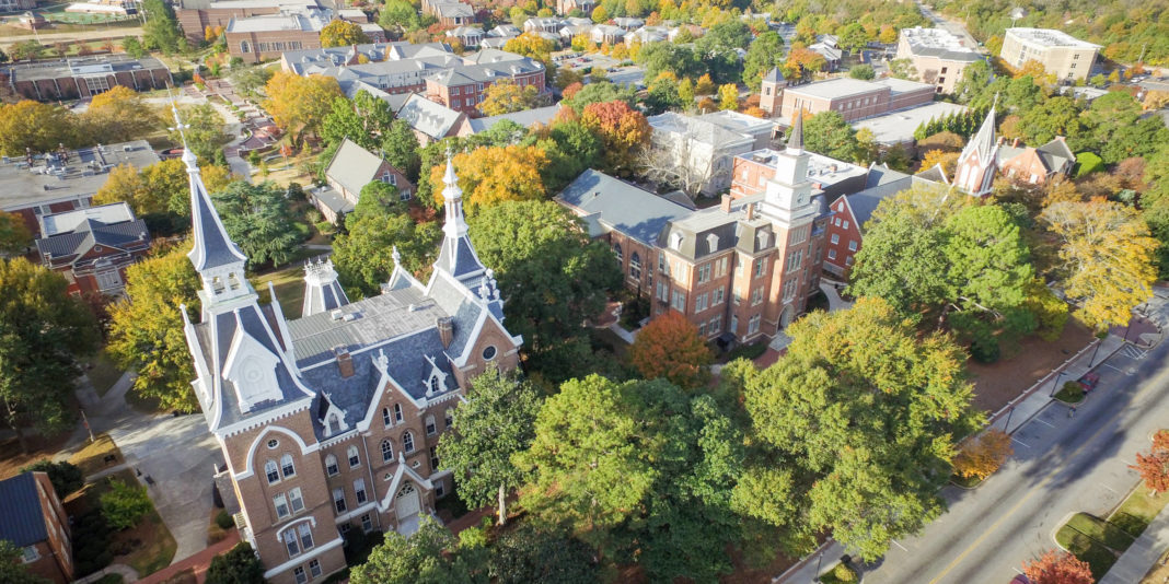
<instances>
[{"instance_id":1,"label":"brick building with mansard roof and square white-topped tower","mask_svg":"<svg viewBox=\"0 0 1169 584\"><path fill-rule=\"evenodd\" d=\"M691 210L596 171L556 201L609 243L625 286L652 299L652 315L679 312L724 346L772 338L818 290L830 218L808 180L802 126L762 193L726 195L719 207Z\"/></svg>"}]
</instances>

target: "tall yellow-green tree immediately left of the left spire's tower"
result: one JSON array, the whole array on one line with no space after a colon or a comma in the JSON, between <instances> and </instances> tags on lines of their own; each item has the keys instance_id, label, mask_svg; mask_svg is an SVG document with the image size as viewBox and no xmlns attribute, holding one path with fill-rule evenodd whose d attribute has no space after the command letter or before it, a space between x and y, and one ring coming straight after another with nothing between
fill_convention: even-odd
<instances>
[{"instance_id":1,"label":"tall yellow-green tree immediately left of the left spire's tower","mask_svg":"<svg viewBox=\"0 0 1169 584\"><path fill-rule=\"evenodd\" d=\"M184 248L157 248L126 269L126 298L110 310L106 350L118 367L138 373L132 389L140 396L189 412L199 402L191 388L195 370L179 311L186 306L188 318L198 317L201 286L186 253Z\"/></svg>"}]
</instances>

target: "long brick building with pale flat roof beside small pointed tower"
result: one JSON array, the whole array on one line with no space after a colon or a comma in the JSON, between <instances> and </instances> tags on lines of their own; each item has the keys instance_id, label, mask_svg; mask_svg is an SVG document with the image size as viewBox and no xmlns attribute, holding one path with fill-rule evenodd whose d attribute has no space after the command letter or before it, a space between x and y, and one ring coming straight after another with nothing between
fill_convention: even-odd
<instances>
[{"instance_id":1,"label":"long brick building with pale flat roof beside small pointed tower","mask_svg":"<svg viewBox=\"0 0 1169 584\"><path fill-rule=\"evenodd\" d=\"M934 100L934 86L905 79L862 81L849 77L787 86L779 114L791 118L795 111L811 114L837 111L845 121L916 107Z\"/></svg>"}]
</instances>

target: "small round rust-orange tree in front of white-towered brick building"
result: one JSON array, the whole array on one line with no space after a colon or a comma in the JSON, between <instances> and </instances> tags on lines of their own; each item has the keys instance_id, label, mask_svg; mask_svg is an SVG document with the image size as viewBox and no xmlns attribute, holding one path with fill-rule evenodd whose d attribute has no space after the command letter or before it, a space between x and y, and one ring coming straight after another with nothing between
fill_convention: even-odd
<instances>
[{"instance_id":1,"label":"small round rust-orange tree in front of white-towered brick building","mask_svg":"<svg viewBox=\"0 0 1169 584\"><path fill-rule=\"evenodd\" d=\"M655 318L637 333L629 357L646 380L665 377L683 389L704 387L714 360L698 336L698 327L673 311Z\"/></svg>"}]
</instances>

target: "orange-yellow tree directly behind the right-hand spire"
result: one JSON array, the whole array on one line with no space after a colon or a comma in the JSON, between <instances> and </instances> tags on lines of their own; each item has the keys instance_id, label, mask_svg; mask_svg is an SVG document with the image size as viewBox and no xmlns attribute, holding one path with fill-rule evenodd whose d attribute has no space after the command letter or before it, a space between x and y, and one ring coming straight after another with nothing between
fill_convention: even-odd
<instances>
[{"instance_id":1,"label":"orange-yellow tree directly behind the right-hand spire","mask_svg":"<svg viewBox=\"0 0 1169 584\"><path fill-rule=\"evenodd\" d=\"M463 189L463 207L475 214L480 207L504 201L535 201L544 199L540 172L548 164L548 155L535 146L490 146L455 155L458 187ZM430 169L435 202L442 204L442 176L445 165Z\"/></svg>"}]
</instances>

